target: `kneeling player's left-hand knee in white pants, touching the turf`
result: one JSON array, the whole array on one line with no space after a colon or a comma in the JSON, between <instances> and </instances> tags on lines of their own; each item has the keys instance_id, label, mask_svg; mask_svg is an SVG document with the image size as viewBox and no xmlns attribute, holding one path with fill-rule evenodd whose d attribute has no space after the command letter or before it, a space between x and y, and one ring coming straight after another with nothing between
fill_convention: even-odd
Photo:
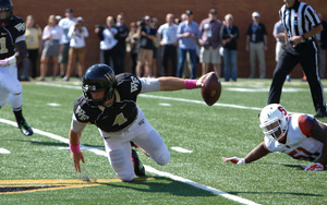
<instances>
[{"instance_id":1,"label":"kneeling player's left-hand knee in white pants, touching the turf","mask_svg":"<svg viewBox=\"0 0 327 205\"><path fill-rule=\"evenodd\" d=\"M122 149L114 149L109 152L112 169L116 176L122 181L132 181L135 177L134 169L129 164L132 164L131 157L125 159ZM131 160L131 161L126 161Z\"/></svg>"}]
</instances>

